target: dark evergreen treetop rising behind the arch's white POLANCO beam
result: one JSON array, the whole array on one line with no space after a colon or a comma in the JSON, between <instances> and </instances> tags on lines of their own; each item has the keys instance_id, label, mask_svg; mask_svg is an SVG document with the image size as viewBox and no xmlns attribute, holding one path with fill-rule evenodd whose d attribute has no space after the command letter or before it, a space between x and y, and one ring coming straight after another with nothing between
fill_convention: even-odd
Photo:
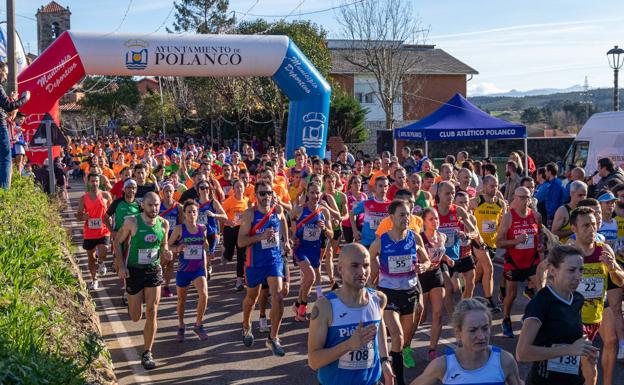
<instances>
[{"instance_id":1,"label":"dark evergreen treetop rising behind the arch's white POLANCO beam","mask_svg":"<svg viewBox=\"0 0 624 385\"><path fill-rule=\"evenodd\" d=\"M224 33L235 24L228 16L229 0L178 0L174 2L173 31L195 33Z\"/></svg>"}]
</instances>

